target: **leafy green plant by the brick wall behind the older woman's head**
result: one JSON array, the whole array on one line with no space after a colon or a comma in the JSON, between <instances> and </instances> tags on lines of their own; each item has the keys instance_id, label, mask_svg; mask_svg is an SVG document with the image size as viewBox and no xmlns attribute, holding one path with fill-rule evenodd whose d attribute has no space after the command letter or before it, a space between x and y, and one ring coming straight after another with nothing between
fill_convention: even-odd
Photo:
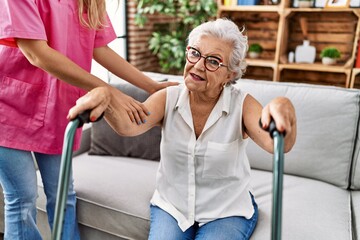
<instances>
[{"instance_id":1,"label":"leafy green plant by the brick wall behind the older woman's head","mask_svg":"<svg viewBox=\"0 0 360 240\"><path fill-rule=\"evenodd\" d=\"M186 38L201 23L216 18L214 0L136 0L135 24L143 27L149 16L161 14L169 21L154 24L149 49L157 56L163 73L181 74L185 65Z\"/></svg>"}]
</instances>

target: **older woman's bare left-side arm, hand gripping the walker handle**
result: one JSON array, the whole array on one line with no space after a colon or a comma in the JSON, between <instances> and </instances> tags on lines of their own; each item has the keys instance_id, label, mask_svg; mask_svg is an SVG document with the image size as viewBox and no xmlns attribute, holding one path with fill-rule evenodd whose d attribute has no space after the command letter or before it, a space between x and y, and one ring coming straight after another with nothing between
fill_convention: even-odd
<instances>
[{"instance_id":1,"label":"older woman's bare left-side arm, hand gripping the walker handle","mask_svg":"<svg viewBox=\"0 0 360 240\"><path fill-rule=\"evenodd\" d=\"M144 121L131 118L131 112L127 109L137 108L140 103L133 98L127 101L126 98L130 97L111 86L95 88L76 101L76 106L69 110L68 118L74 119L79 113L92 109L90 119L95 120L105 112L106 121L118 134L125 136L136 136L154 126L161 125L165 110L166 89L152 94L145 101L143 107L147 109L148 115L143 116Z\"/></svg>"}]
</instances>

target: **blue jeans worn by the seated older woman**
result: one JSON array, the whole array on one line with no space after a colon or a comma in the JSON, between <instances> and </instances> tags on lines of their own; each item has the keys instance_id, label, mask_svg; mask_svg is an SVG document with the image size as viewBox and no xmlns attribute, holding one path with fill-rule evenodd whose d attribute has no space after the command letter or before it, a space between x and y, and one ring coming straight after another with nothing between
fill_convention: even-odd
<instances>
[{"instance_id":1,"label":"blue jeans worn by the seated older woman","mask_svg":"<svg viewBox=\"0 0 360 240\"><path fill-rule=\"evenodd\" d=\"M199 227L198 223L183 232L175 218L157 206L150 206L149 240L247 240L258 220L258 207L253 200L254 215L219 218Z\"/></svg>"}]
</instances>

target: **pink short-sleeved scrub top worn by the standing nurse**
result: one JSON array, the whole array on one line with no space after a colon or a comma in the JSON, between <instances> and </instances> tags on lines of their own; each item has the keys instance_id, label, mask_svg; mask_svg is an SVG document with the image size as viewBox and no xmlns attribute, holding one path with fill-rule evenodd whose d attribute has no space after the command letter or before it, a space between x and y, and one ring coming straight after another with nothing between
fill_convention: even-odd
<instances>
[{"instance_id":1,"label":"pink short-sleeved scrub top worn by the standing nurse","mask_svg":"<svg viewBox=\"0 0 360 240\"><path fill-rule=\"evenodd\" d=\"M0 0L0 146L61 153L67 113L85 91L31 65L14 39L46 40L90 71L93 49L116 35L109 18L101 30L83 27L77 9L77 0Z\"/></svg>"}]
</instances>

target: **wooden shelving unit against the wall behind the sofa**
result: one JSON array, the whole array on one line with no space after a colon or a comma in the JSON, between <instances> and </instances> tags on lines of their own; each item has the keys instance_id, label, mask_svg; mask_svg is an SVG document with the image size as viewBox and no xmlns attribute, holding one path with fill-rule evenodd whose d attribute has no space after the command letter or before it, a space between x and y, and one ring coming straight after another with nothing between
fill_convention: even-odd
<instances>
[{"instance_id":1,"label":"wooden shelving unit against the wall behind the sofa","mask_svg":"<svg viewBox=\"0 0 360 240\"><path fill-rule=\"evenodd\" d=\"M264 48L261 59L246 59L248 69L244 77L360 88L360 69L353 68L360 35L360 10L290 6L291 0L254 6L238 6L236 1L224 6L224 0L218 0L218 17L245 26L249 44L257 42ZM304 40L300 18L306 19L306 37L316 48L313 64L288 63L289 52L295 52ZM326 46L341 51L337 65L321 63L320 52Z\"/></svg>"}]
</instances>

